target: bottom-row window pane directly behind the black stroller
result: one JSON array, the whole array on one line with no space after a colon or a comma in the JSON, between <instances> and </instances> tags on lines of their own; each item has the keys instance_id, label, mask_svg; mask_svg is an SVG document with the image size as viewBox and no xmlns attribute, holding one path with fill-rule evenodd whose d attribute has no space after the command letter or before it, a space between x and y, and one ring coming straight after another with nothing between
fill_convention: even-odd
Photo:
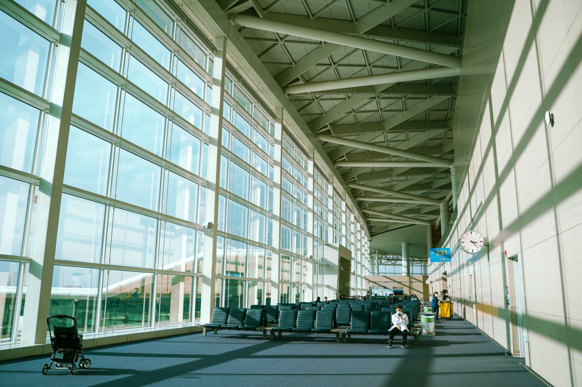
<instances>
[{"instance_id":1,"label":"bottom-row window pane directly behind the black stroller","mask_svg":"<svg viewBox=\"0 0 582 387\"><path fill-rule=\"evenodd\" d=\"M48 314L65 314L77 320L79 333L95 330L99 269L55 266L52 272L51 305ZM53 325L70 327L71 320L51 320Z\"/></svg>"}]
</instances>

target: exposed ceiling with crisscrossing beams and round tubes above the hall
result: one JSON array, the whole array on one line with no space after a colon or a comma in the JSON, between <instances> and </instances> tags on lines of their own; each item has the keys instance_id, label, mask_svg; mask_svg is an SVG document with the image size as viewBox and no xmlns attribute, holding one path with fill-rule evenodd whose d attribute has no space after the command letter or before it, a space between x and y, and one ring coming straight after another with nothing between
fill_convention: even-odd
<instances>
[{"instance_id":1,"label":"exposed ceiling with crisscrossing beams and round tubes above the hall","mask_svg":"<svg viewBox=\"0 0 582 387\"><path fill-rule=\"evenodd\" d=\"M456 198L468 0L217 3L320 139L372 237L439 224Z\"/></svg>"}]
</instances>

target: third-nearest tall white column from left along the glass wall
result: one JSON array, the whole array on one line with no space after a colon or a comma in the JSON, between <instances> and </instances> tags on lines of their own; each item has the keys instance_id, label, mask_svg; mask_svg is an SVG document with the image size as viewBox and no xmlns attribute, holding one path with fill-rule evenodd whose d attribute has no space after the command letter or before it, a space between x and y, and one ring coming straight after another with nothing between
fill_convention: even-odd
<instances>
[{"instance_id":1,"label":"third-nearest tall white column from left along the glass wall","mask_svg":"<svg viewBox=\"0 0 582 387\"><path fill-rule=\"evenodd\" d=\"M271 268L271 304L279 302L281 276L281 174L283 157L283 108L275 109L275 181L273 186L273 260Z\"/></svg>"}]
</instances>

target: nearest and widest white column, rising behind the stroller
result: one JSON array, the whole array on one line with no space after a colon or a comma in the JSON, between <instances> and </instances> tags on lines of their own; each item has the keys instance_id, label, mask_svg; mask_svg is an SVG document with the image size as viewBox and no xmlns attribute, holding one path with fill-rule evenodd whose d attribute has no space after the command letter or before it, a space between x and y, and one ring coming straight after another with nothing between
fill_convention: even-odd
<instances>
[{"instance_id":1,"label":"nearest and widest white column, rising behind the stroller","mask_svg":"<svg viewBox=\"0 0 582 387\"><path fill-rule=\"evenodd\" d=\"M47 342L56 235L61 213L63 174L69 142L74 86L79 64L86 0L67 0L56 53L55 80L40 171L34 241L24 304L22 342Z\"/></svg>"}]
</instances>

